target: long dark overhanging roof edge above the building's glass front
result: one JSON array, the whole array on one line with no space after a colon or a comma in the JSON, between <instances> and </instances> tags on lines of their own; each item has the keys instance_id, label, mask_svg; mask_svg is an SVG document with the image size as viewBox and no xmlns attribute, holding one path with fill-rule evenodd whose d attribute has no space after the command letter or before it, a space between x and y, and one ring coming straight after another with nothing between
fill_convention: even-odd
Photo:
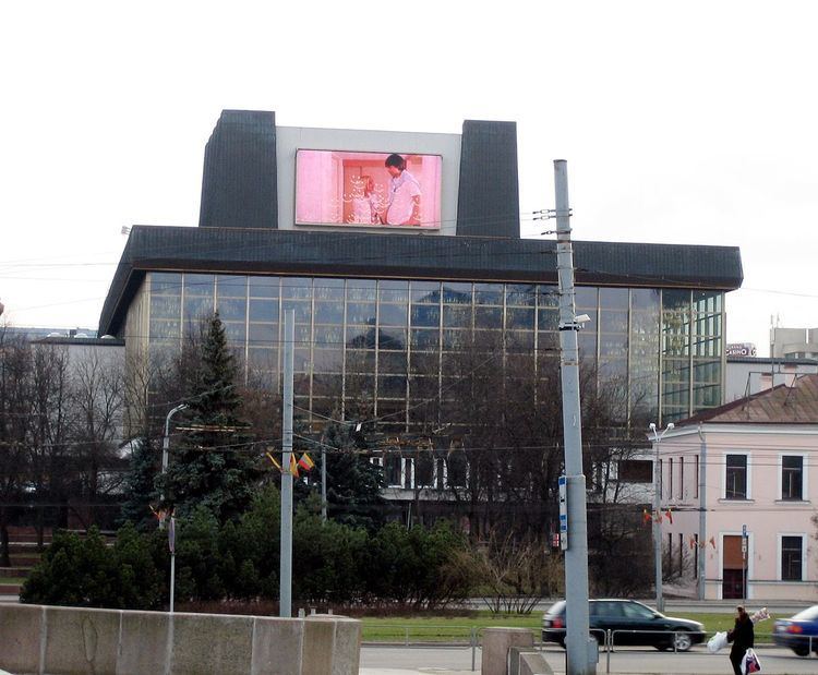
<instances>
[{"instance_id":1,"label":"long dark overhanging roof edge above the building's glass front","mask_svg":"<svg viewBox=\"0 0 818 675\"><path fill-rule=\"evenodd\" d=\"M556 242L342 230L134 226L99 318L119 333L146 272L556 284ZM734 290L737 246L575 241L579 285Z\"/></svg>"}]
</instances>

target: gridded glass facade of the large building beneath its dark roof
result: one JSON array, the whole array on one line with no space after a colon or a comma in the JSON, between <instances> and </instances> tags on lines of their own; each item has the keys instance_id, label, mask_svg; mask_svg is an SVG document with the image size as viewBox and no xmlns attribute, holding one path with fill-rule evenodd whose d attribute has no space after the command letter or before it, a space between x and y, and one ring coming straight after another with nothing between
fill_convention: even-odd
<instances>
[{"instance_id":1,"label":"gridded glass facade of the large building beneath its dark roof","mask_svg":"<svg viewBox=\"0 0 818 675\"><path fill-rule=\"evenodd\" d=\"M279 388L281 317L293 310L297 411L313 426L365 414L397 432L445 409L457 354L506 366L555 359L557 304L555 286L533 284L154 272L124 337L132 353L172 353L218 310L246 373ZM722 291L579 287L576 306L591 318L579 333L585 367L598 384L627 387L625 414L664 424L721 405Z\"/></svg>"}]
</instances>

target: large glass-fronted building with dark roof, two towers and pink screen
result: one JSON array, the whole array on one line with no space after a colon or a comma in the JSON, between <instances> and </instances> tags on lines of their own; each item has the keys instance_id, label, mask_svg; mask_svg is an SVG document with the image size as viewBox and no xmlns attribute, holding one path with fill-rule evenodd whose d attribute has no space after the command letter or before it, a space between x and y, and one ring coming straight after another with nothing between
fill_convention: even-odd
<instances>
[{"instance_id":1,"label":"large glass-fronted building with dark roof, two towers and pink screen","mask_svg":"<svg viewBox=\"0 0 818 675\"><path fill-rule=\"evenodd\" d=\"M224 111L199 227L132 228L99 330L137 363L178 350L218 310L248 371L277 388L293 309L301 423L320 431L365 402L381 431L411 436L453 422L444 403L462 396L464 352L494 372L553 362L554 253L520 238L514 123L370 132ZM577 241L575 265L586 372L658 423L723 402L736 248ZM401 463L387 474L418 481Z\"/></svg>"}]
</instances>

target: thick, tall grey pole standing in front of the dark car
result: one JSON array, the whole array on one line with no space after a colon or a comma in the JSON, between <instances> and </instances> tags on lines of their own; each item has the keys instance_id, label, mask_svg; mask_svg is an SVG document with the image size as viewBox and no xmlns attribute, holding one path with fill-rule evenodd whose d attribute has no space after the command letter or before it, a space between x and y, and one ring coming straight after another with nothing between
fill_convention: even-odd
<instances>
[{"instance_id":1,"label":"thick, tall grey pole standing in front of the dark car","mask_svg":"<svg viewBox=\"0 0 818 675\"><path fill-rule=\"evenodd\" d=\"M563 434L565 439L565 482L567 485L567 528L565 551L566 650L568 675L597 672L591 663L594 638L589 638L588 620L588 517L582 474L582 418L579 405L579 348L574 309L574 252L570 243L568 168L554 160L556 193L556 269L560 280L560 360L563 386Z\"/></svg>"}]
</instances>

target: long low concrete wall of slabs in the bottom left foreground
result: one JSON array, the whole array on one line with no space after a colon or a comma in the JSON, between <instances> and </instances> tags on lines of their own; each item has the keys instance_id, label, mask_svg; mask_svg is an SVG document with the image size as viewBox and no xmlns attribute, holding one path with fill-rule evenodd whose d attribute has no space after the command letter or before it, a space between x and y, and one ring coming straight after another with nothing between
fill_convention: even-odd
<instances>
[{"instance_id":1,"label":"long low concrete wall of slabs in the bottom left foreground","mask_svg":"<svg viewBox=\"0 0 818 675\"><path fill-rule=\"evenodd\" d=\"M0 670L15 675L354 675L361 623L0 605Z\"/></svg>"}]
</instances>

